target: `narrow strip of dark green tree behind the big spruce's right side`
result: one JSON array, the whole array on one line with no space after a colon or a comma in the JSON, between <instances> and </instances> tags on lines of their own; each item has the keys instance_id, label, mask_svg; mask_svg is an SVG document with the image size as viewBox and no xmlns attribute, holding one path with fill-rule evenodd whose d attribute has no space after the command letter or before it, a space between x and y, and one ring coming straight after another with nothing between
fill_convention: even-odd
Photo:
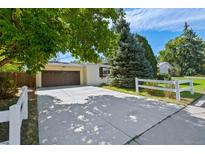
<instances>
[{"instance_id":1,"label":"narrow strip of dark green tree behind the big spruce's right side","mask_svg":"<svg viewBox=\"0 0 205 154\"><path fill-rule=\"evenodd\" d=\"M157 76L157 60L152 51L152 47L148 43L147 39L139 34L135 35L136 40L141 44L141 46L145 49L145 57L150 62L154 77Z\"/></svg>"}]
</instances>

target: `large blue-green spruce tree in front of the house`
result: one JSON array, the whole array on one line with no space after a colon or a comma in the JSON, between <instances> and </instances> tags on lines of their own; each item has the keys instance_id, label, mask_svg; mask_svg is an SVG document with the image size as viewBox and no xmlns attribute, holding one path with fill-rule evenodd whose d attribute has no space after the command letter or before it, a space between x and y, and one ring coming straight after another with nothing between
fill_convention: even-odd
<instances>
[{"instance_id":1,"label":"large blue-green spruce tree in front of the house","mask_svg":"<svg viewBox=\"0 0 205 154\"><path fill-rule=\"evenodd\" d=\"M120 39L118 50L109 59L111 84L131 88L135 86L135 77L151 78L152 68L145 57L144 49L130 33L125 19L120 18L114 28L120 34Z\"/></svg>"}]
</instances>

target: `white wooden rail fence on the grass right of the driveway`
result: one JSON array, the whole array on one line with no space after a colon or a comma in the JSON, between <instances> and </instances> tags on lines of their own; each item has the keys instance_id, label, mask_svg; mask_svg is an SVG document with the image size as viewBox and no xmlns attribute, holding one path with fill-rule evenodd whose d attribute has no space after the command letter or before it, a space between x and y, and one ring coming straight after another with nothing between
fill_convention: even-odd
<instances>
[{"instance_id":1,"label":"white wooden rail fence on the grass right of the driveway","mask_svg":"<svg viewBox=\"0 0 205 154\"><path fill-rule=\"evenodd\" d=\"M147 85L140 85L140 82L151 82L151 83L164 83L164 84L173 84L175 85L175 88L165 88L165 87L157 87L157 86L147 86ZM180 84L189 83L189 87L180 88ZM150 80L150 79L138 79L135 78L135 87L136 92L139 93L139 88L148 88L148 89L154 89L154 90L162 90L162 91L170 91L176 93L176 99L180 101L180 92L183 91L190 91L190 93L194 94L194 88L193 88L193 81L192 80Z\"/></svg>"}]
</instances>

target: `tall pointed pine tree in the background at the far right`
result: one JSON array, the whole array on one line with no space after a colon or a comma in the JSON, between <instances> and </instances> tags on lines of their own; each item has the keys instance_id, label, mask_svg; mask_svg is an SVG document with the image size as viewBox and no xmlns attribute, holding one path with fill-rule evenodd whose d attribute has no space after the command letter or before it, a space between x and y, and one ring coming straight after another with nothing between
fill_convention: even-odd
<instances>
[{"instance_id":1,"label":"tall pointed pine tree in the background at the far right","mask_svg":"<svg viewBox=\"0 0 205 154\"><path fill-rule=\"evenodd\" d=\"M187 23L181 37L184 40L178 50L181 75L199 74L204 63L204 42Z\"/></svg>"}]
</instances>

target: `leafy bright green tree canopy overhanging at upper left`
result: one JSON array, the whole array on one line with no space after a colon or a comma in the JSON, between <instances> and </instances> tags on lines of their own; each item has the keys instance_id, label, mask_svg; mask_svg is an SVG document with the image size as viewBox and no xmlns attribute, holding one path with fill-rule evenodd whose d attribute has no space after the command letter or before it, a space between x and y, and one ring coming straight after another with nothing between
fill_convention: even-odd
<instances>
[{"instance_id":1,"label":"leafy bright green tree canopy overhanging at upper left","mask_svg":"<svg viewBox=\"0 0 205 154\"><path fill-rule=\"evenodd\" d=\"M59 51L96 62L116 48L109 24L118 16L116 9L0 9L0 67L20 63L35 73Z\"/></svg>"}]
</instances>

